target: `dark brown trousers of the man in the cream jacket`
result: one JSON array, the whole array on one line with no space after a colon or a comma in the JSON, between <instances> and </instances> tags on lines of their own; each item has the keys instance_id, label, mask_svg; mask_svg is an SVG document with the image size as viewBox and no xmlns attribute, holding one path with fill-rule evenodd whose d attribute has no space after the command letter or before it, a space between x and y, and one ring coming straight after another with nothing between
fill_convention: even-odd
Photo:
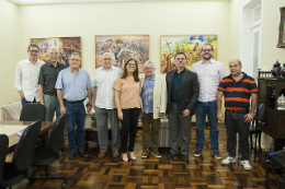
<instances>
[{"instance_id":1,"label":"dark brown trousers of the man in the cream jacket","mask_svg":"<svg viewBox=\"0 0 285 189\"><path fill-rule=\"evenodd\" d=\"M160 118L153 119L153 114L149 113L149 114L144 114L141 121L142 121L142 150L149 151L149 131L151 130L151 151L157 152Z\"/></svg>"}]
</instances>

